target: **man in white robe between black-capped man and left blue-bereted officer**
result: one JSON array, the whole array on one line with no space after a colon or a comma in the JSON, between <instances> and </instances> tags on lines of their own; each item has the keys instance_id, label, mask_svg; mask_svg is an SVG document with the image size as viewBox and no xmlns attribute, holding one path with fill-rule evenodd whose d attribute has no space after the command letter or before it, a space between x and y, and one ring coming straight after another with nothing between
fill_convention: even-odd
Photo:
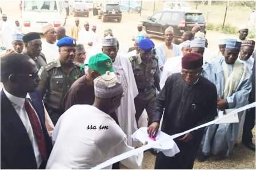
<instances>
[{"instance_id":1,"label":"man in white robe between black-capped man and left blue-bereted officer","mask_svg":"<svg viewBox=\"0 0 256 170\"><path fill-rule=\"evenodd\" d=\"M56 31L52 24L43 26L42 31L43 35L45 35L45 40L42 41L42 53L46 57L46 62L51 63L51 61L54 61L59 57Z\"/></svg>"}]
</instances>

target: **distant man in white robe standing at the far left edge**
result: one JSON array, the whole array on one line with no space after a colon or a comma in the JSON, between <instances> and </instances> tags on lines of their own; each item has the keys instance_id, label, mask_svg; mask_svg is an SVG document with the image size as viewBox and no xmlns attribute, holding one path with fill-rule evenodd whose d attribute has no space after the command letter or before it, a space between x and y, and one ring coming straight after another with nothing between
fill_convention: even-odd
<instances>
[{"instance_id":1,"label":"distant man in white robe standing at the far left edge","mask_svg":"<svg viewBox=\"0 0 256 170\"><path fill-rule=\"evenodd\" d=\"M13 45L11 45L12 36L14 34L13 25L7 20L7 16L2 14L2 20L0 21L0 35L2 39L2 45L7 49L13 49Z\"/></svg>"}]
</instances>

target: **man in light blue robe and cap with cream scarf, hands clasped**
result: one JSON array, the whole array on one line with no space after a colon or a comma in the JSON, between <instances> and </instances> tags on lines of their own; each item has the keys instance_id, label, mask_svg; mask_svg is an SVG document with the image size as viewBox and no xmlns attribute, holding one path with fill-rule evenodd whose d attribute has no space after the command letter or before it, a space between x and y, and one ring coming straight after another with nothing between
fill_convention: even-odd
<instances>
[{"instance_id":1,"label":"man in light blue robe and cap with cream scarf, hands clasped","mask_svg":"<svg viewBox=\"0 0 256 170\"><path fill-rule=\"evenodd\" d=\"M213 82L217 88L219 110L236 109L248 103L251 78L246 71L246 65L237 60L240 47L241 42L227 39L225 57L219 57L203 67L203 76ZM229 156L237 141L239 128L243 126L244 116L238 113L239 123L223 123L207 127L198 160L205 161L210 154L219 157Z\"/></svg>"}]
</instances>

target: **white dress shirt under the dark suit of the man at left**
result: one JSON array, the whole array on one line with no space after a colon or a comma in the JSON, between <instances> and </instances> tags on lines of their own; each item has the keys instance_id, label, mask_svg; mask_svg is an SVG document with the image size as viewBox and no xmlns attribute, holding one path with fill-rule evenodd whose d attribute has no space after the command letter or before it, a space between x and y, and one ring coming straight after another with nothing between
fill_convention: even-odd
<instances>
[{"instance_id":1,"label":"white dress shirt under the dark suit of the man at left","mask_svg":"<svg viewBox=\"0 0 256 170\"><path fill-rule=\"evenodd\" d=\"M37 139L35 139L35 136L34 136L34 133L33 133L33 128L31 126L31 123L30 123L30 120L29 120L29 116L27 115L27 111L25 109L25 98L13 96L9 92L7 92L5 88L3 88L3 92L5 93L6 97L10 100L11 105L14 107L14 109L17 112L19 118L21 118L21 121L22 121L24 127L26 128L27 135L29 135L31 145L32 145L33 150L34 150L35 160L37 161L37 167L39 168L39 166L42 163L42 157L41 157L41 154L39 152L39 148L38 148L38 145L37 145ZM30 98L29 93L27 93L26 98ZM34 109L34 107L31 105L31 103L30 103L30 106Z\"/></svg>"}]
</instances>

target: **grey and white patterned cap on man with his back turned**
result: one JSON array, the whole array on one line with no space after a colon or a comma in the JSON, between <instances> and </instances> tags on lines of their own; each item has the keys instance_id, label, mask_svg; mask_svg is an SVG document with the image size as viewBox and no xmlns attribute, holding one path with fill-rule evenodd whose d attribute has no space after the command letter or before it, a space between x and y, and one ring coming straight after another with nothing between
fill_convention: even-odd
<instances>
[{"instance_id":1,"label":"grey and white patterned cap on man with his back turned","mask_svg":"<svg viewBox=\"0 0 256 170\"><path fill-rule=\"evenodd\" d=\"M106 74L94 79L94 95L98 98L111 98L123 93L121 78L114 72L107 71Z\"/></svg>"}]
</instances>

